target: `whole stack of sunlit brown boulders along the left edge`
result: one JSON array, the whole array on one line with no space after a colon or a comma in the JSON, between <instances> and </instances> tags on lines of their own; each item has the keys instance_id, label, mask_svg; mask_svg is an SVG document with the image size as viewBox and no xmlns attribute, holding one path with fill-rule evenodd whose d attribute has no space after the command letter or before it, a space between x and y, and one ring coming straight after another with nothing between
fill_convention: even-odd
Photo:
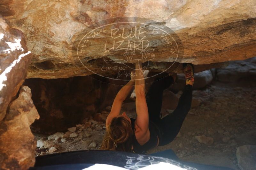
<instances>
[{"instance_id":1,"label":"whole stack of sunlit brown boulders along the left edge","mask_svg":"<svg viewBox=\"0 0 256 170\"><path fill-rule=\"evenodd\" d=\"M31 57L23 33L0 16L0 169L28 169L35 164L36 142L29 126L39 115L30 89L20 88Z\"/></svg>"}]
</instances>

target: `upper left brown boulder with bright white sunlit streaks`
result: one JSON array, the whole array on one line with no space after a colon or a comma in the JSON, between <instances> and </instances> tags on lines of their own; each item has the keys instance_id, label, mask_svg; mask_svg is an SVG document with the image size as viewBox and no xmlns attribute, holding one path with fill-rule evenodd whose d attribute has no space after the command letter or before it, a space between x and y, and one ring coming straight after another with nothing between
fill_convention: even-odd
<instances>
[{"instance_id":1,"label":"upper left brown boulder with bright white sunlit streaks","mask_svg":"<svg viewBox=\"0 0 256 170\"><path fill-rule=\"evenodd\" d=\"M10 28L0 16L0 121L26 78L29 53L22 32Z\"/></svg>"}]
</instances>

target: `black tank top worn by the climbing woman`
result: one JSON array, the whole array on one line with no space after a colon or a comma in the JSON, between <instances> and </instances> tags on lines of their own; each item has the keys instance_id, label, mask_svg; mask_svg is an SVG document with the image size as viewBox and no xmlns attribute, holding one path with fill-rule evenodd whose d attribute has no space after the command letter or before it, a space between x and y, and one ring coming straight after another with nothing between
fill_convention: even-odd
<instances>
[{"instance_id":1,"label":"black tank top worn by the climbing woman","mask_svg":"<svg viewBox=\"0 0 256 170\"><path fill-rule=\"evenodd\" d=\"M160 139L161 139L160 130L156 124L149 121L150 139L144 145L140 145L135 136L134 125L135 125L136 119L133 119L133 118L130 118L130 119L131 119L132 130L133 130L133 142L132 142L133 143L133 151L135 153L145 153L147 150L153 149L154 147L156 147L157 142L158 142L157 138L159 138L159 143L160 143Z\"/></svg>"}]
</instances>

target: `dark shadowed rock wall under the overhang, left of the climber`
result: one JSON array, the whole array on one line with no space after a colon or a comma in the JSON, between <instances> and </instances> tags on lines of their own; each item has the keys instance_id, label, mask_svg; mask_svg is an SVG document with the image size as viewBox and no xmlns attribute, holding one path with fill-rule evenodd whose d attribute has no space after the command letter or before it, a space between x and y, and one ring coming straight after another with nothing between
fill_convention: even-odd
<instances>
[{"instance_id":1,"label":"dark shadowed rock wall under the overhang, left of the climber","mask_svg":"<svg viewBox=\"0 0 256 170\"><path fill-rule=\"evenodd\" d=\"M89 76L67 79L26 79L24 85L32 92L32 100L40 119L32 124L33 131L53 134L65 132L86 117L94 117L112 105L122 86L97 81Z\"/></svg>"}]
</instances>

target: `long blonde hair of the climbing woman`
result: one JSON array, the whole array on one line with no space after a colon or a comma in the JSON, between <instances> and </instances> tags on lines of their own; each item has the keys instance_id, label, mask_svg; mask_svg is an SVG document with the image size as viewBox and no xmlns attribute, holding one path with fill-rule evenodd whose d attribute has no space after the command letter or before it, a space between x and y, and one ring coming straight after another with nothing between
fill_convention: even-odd
<instances>
[{"instance_id":1,"label":"long blonde hair of the climbing woman","mask_svg":"<svg viewBox=\"0 0 256 170\"><path fill-rule=\"evenodd\" d=\"M134 132L124 117L114 117L101 143L102 150L132 152Z\"/></svg>"}]
</instances>

